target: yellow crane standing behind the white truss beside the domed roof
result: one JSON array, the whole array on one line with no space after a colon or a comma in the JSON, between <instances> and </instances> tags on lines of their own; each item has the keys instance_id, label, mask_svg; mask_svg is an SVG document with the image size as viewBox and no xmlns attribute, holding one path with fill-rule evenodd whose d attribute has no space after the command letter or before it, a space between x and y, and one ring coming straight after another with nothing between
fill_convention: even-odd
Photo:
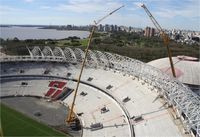
<instances>
[{"instance_id":1,"label":"yellow crane standing behind the white truss beside the domed roof","mask_svg":"<svg viewBox=\"0 0 200 137\"><path fill-rule=\"evenodd\" d=\"M168 35L165 34L165 32L163 31L162 27L160 26L160 24L158 24L158 22L153 17L151 12L147 9L147 7L144 4L142 4L141 7L144 8L145 12L147 13L149 18L153 22L153 24L156 27L156 29L161 33L161 36L162 36L163 41L164 41L164 45L167 47L167 53L168 53L168 57L169 57L170 65L171 65L172 74L173 74L174 77L176 77L174 64L173 64L173 61L172 61L172 55L171 55L171 51L170 51L170 48L169 48L169 37L168 37Z\"/></svg>"}]
</instances>

